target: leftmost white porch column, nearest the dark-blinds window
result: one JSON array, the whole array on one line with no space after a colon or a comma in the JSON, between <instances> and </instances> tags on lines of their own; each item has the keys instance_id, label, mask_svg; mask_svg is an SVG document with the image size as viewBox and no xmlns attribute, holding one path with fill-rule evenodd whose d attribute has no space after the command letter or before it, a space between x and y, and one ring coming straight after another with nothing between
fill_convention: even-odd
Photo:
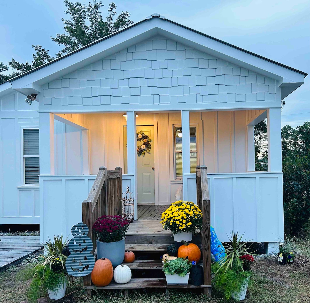
<instances>
[{"instance_id":1,"label":"leftmost white porch column, nearest the dark-blinds window","mask_svg":"<svg viewBox=\"0 0 310 303\"><path fill-rule=\"evenodd\" d=\"M40 175L54 175L54 114L39 113L39 140Z\"/></svg>"}]
</instances>

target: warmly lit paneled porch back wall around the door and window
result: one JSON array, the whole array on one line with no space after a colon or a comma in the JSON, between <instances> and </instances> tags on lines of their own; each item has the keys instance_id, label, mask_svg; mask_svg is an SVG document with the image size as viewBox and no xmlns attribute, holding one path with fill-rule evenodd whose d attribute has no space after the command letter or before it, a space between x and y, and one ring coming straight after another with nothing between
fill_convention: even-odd
<instances>
[{"instance_id":1,"label":"warmly lit paneled porch back wall around the door and window","mask_svg":"<svg viewBox=\"0 0 310 303\"><path fill-rule=\"evenodd\" d=\"M158 201L175 201L182 180L174 180L173 124L181 124L181 113L138 113L137 125L157 122ZM100 166L120 166L126 173L123 141L126 119L122 113L85 114L89 128L90 173ZM191 112L190 123L198 123L198 165L210 173L246 171L246 111ZM125 151L126 152L126 151Z\"/></svg>"}]
</instances>

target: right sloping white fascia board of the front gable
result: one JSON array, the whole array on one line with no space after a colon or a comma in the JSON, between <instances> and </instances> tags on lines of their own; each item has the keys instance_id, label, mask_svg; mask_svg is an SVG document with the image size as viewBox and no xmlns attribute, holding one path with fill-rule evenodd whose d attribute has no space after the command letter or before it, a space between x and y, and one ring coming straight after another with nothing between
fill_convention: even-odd
<instances>
[{"instance_id":1,"label":"right sloping white fascia board of the front gable","mask_svg":"<svg viewBox=\"0 0 310 303\"><path fill-rule=\"evenodd\" d=\"M197 50L201 50L217 58L245 67L276 80L286 78L293 82L303 82L301 79L304 79L304 75L296 71L292 71L288 68L277 65L276 63L256 57L255 55L203 36L201 33L191 31L172 22L166 22L167 20L157 20L158 23L160 23L158 26L158 33L169 37L170 39L179 41L185 45L193 46Z\"/></svg>"}]
</instances>

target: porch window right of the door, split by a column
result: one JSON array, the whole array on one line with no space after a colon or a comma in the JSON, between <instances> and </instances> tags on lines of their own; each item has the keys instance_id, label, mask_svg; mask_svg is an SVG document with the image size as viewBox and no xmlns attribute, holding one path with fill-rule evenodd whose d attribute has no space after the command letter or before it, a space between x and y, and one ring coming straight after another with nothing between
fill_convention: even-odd
<instances>
[{"instance_id":1,"label":"porch window right of the door, split by a column","mask_svg":"<svg viewBox=\"0 0 310 303\"><path fill-rule=\"evenodd\" d=\"M182 169L182 128L175 126L174 128L174 152L175 152L175 177L183 176ZM190 146L190 165L191 173L196 172L197 166L197 127L189 127L189 146Z\"/></svg>"}]
</instances>

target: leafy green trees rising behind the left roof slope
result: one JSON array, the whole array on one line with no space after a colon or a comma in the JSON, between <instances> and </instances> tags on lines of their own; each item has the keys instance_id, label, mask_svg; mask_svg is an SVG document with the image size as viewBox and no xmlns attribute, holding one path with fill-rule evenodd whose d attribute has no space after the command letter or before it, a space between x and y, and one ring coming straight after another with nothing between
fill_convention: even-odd
<instances>
[{"instance_id":1,"label":"leafy green trees rising behind the left roof slope","mask_svg":"<svg viewBox=\"0 0 310 303\"><path fill-rule=\"evenodd\" d=\"M67 7L65 14L70 15L68 20L62 18L65 33L51 37L57 45L64 46L55 55L57 58L133 24L133 21L129 19L130 13L127 11L122 11L115 19L117 6L114 2L108 6L108 16L105 21L100 12L100 9L104 6L102 2L93 0L93 3L90 2L86 6L80 2L73 3L65 0L64 4ZM8 70L8 66L3 65L2 62L0 63L0 83L54 59L48 54L48 50L45 50L41 45L33 45L32 47L36 51L33 54L32 63L28 61L20 63L12 58L12 61L8 63L14 70L11 75L3 74L4 71Z\"/></svg>"}]
</instances>

